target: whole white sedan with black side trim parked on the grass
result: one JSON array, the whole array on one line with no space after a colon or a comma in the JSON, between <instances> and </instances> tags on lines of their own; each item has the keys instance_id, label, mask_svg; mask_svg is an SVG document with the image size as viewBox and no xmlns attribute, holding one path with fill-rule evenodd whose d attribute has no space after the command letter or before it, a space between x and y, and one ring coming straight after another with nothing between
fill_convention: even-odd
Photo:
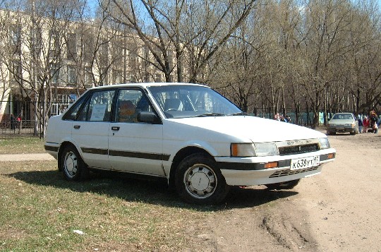
<instances>
[{"instance_id":1,"label":"whole white sedan with black side trim parked on the grass","mask_svg":"<svg viewBox=\"0 0 381 252\"><path fill-rule=\"evenodd\" d=\"M168 179L189 203L221 203L231 186L292 188L334 160L324 133L248 116L188 83L92 88L52 116L45 150L66 179L91 169Z\"/></svg>"}]
</instances>

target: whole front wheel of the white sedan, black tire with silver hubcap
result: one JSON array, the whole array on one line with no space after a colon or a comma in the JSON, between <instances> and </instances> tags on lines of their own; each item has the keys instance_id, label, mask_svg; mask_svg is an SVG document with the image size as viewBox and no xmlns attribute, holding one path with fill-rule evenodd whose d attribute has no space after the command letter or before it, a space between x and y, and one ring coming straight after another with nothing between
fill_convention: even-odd
<instances>
[{"instance_id":1,"label":"whole front wheel of the white sedan, black tire with silver hubcap","mask_svg":"<svg viewBox=\"0 0 381 252\"><path fill-rule=\"evenodd\" d=\"M221 203L230 189L216 162L202 153L190 155L180 162L175 186L186 202L207 205Z\"/></svg>"}]
</instances>

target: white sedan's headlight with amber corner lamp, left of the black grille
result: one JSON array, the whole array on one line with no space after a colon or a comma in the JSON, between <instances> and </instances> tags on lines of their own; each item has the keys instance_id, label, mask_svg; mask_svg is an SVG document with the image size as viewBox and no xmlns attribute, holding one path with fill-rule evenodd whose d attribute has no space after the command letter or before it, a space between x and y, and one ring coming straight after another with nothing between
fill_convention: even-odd
<instances>
[{"instance_id":1,"label":"white sedan's headlight with amber corner lamp, left of the black grille","mask_svg":"<svg viewBox=\"0 0 381 252\"><path fill-rule=\"evenodd\" d=\"M279 155L275 143L232 143L232 157L265 157Z\"/></svg>"}]
</instances>

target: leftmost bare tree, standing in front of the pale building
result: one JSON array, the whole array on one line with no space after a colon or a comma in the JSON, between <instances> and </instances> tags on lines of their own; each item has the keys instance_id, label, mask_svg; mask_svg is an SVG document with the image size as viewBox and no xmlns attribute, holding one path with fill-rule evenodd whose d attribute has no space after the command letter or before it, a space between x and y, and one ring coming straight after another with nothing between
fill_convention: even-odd
<instances>
[{"instance_id":1,"label":"leftmost bare tree, standing in front of the pale building","mask_svg":"<svg viewBox=\"0 0 381 252\"><path fill-rule=\"evenodd\" d=\"M23 4L22 13L13 11L8 17L13 22L8 27L11 39L3 42L4 61L11 74L11 84L18 86L21 99L34 104L35 135L41 132L43 137L54 99L52 80L62 64L59 37L67 30L67 22L59 18L67 18L71 11L54 1Z\"/></svg>"}]
</instances>

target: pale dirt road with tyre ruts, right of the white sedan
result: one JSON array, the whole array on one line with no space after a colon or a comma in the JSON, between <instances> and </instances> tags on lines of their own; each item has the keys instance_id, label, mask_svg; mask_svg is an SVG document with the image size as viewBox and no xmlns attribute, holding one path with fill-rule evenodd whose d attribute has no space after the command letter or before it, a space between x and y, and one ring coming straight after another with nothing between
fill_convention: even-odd
<instances>
[{"instance_id":1,"label":"pale dirt road with tyre ruts, right of the white sedan","mask_svg":"<svg viewBox=\"0 0 381 252\"><path fill-rule=\"evenodd\" d=\"M200 250L381 251L381 133L329 140L337 157L322 174L289 191L239 191L197 230Z\"/></svg>"}]
</instances>

